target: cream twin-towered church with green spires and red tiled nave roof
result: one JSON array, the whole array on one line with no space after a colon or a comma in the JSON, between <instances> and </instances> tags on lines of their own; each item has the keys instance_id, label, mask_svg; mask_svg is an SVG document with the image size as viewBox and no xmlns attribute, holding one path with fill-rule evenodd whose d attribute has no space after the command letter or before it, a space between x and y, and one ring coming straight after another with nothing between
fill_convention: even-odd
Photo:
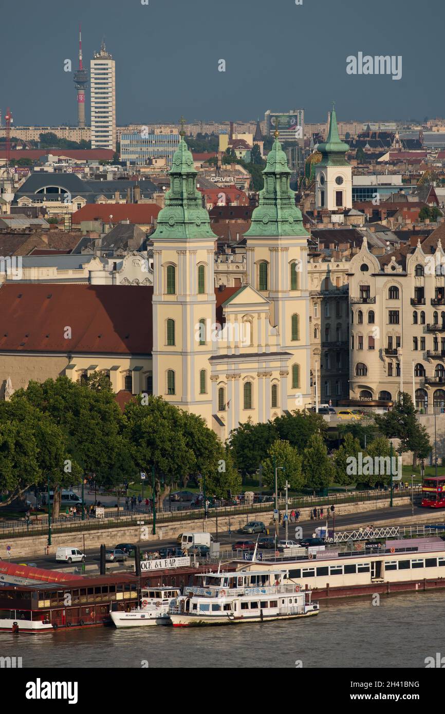
<instances>
[{"instance_id":1,"label":"cream twin-towered church with green spires and red tiled nave roof","mask_svg":"<svg viewBox=\"0 0 445 714\"><path fill-rule=\"evenodd\" d=\"M162 396L202 416L222 440L249 418L267 421L311 403L308 233L278 132L244 233L248 280L239 288L215 287L217 237L180 134L151 235L153 286L0 289L8 396L29 379L100 371L122 402L145 391Z\"/></svg>"}]
</instances>

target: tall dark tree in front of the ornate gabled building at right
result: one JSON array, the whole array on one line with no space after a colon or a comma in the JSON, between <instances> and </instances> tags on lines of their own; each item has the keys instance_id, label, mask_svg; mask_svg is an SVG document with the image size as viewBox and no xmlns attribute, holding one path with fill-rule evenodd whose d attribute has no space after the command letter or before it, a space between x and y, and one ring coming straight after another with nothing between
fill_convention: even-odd
<instances>
[{"instance_id":1,"label":"tall dark tree in front of the ornate gabled building at right","mask_svg":"<svg viewBox=\"0 0 445 714\"><path fill-rule=\"evenodd\" d=\"M417 458L425 458L431 452L431 443L424 426L416 419L416 408L407 392L401 393L401 399L391 411L375 415L376 425L388 438L400 439L399 453L412 451L413 468Z\"/></svg>"}]
</instances>

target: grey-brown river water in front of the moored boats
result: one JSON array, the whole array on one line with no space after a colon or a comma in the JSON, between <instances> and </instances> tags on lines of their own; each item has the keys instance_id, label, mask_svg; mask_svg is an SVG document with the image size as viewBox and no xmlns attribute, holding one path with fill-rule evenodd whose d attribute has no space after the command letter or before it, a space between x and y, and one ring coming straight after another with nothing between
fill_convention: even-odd
<instances>
[{"instance_id":1,"label":"grey-brown river water in front of the moored boats","mask_svg":"<svg viewBox=\"0 0 445 714\"><path fill-rule=\"evenodd\" d=\"M445 592L326 604L315 618L216 628L0 633L0 656L31 667L424 668L445 655Z\"/></svg>"}]
</instances>

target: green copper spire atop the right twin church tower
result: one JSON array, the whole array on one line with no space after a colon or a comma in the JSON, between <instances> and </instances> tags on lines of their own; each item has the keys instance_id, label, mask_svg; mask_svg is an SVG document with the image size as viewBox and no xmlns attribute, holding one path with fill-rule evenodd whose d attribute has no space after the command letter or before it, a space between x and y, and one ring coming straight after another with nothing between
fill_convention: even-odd
<instances>
[{"instance_id":1,"label":"green copper spire atop the right twin church tower","mask_svg":"<svg viewBox=\"0 0 445 714\"><path fill-rule=\"evenodd\" d=\"M278 134L278 132L276 132ZM301 211L295 205L295 192L289 188L291 170L276 136L263 171L264 188L259 206L252 213L249 231L244 236L308 236Z\"/></svg>"}]
</instances>

